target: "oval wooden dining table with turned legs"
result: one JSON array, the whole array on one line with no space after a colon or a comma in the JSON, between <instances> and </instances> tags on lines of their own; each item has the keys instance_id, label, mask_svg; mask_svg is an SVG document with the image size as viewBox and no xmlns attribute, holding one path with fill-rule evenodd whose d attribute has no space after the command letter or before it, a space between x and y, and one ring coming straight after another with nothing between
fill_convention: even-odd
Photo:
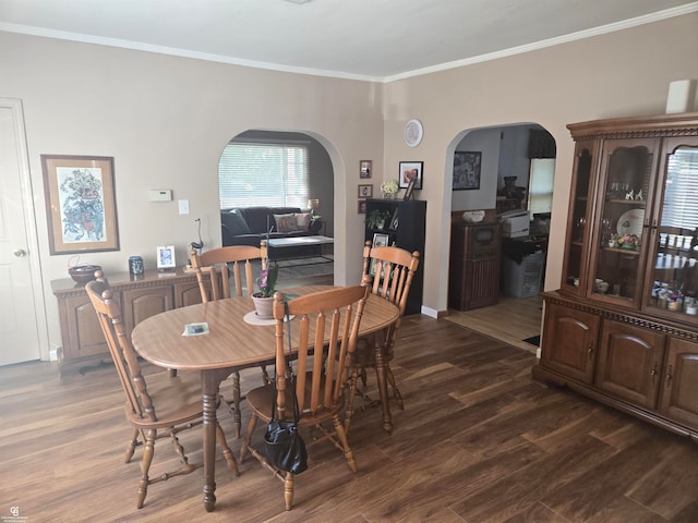
<instances>
[{"instance_id":1,"label":"oval wooden dining table with turned legs","mask_svg":"<svg viewBox=\"0 0 698 523\"><path fill-rule=\"evenodd\" d=\"M330 289L309 285L288 289L287 294L303 295ZM216 408L220 382L236 367L264 363L276 355L274 321L245 320L254 311L249 296L234 296L208 303L174 308L151 316L135 326L131 340L136 352L147 362L177 370L201 372L204 439L204 507L210 512L216 506ZM359 336L385 329L399 317L399 309L388 300L371 294L366 301ZM208 324L208 333L182 336L189 324ZM299 329L292 328L293 336ZM387 386L380 379L381 397L387 406ZM385 399L383 398L385 388ZM385 417L384 409L384 417ZM388 411L389 416L389 411Z\"/></svg>"}]
</instances>

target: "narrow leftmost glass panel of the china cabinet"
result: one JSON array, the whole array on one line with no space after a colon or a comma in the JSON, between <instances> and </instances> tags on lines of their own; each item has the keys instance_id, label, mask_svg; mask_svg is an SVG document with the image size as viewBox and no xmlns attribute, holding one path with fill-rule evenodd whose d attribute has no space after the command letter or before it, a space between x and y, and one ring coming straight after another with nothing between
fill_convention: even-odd
<instances>
[{"instance_id":1,"label":"narrow leftmost glass panel of the china cabinet","mask_svg":"<svg viewBox=\"0 0 698 523\"><path fill-rule=\"evenodd\" d=\"M563 266L563 287L568 291L579 293L581 273L586 266L588 250L583 247L588 234L587 220L591 210L589 205L591 188L591 172L593 169L593 144L579 143L575 150L574 191L569 202L570 214L567 222L567 245Z\"/></svg>"}]
</instances>

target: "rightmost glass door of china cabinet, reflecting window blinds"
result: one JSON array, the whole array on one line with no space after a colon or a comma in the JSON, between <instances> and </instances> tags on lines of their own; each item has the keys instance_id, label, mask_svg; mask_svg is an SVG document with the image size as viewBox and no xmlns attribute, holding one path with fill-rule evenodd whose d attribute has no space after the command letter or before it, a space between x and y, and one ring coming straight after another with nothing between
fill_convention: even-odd
<instances>
[{"instance_id":1,"label":"rightmost glass door of china cabinet, reflecting window blinds","mask_svg":"<svg viewBox=\"0 0 698 523\"><path fill-rule=\"evenodd\" d=\"M669 138L663 150L648 304L655 314L698 320L698 138Z\"/></svg>"}]
</instances>

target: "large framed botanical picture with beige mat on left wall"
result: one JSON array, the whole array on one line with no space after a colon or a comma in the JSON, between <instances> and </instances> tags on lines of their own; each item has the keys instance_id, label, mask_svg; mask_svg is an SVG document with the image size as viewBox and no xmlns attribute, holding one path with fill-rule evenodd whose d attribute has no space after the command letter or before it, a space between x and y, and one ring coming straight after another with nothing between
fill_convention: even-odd
<instances>
[{"instance_id":1,"label":"large framed botanical picture with beige mat on left wall","mask_svg":"<svg viewBox=\"0 0 698 523\"><path fill-rule=\"evenodd\" d=\"M49 251L119 251L113 157L41 155Z\"/></svg>"}]
</instances>

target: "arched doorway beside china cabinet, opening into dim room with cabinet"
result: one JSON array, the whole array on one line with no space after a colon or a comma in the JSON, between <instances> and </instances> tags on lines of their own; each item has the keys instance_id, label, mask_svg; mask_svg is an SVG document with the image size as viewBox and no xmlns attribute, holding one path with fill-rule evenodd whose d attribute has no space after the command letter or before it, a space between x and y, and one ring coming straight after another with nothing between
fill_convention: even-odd
<instances>
[{"instance_id":1,"label":"arched doorway beside china cabinet, opening into dim room with cabinet","mask_svg":"<svg viewBox=\"0 0 698 523\"><path fill-rule=\"evenodd\" d=\"M529 306L534 307L529 318L532 333L540 330L539 294L552 220L555 141L541 125L520 123L464 131L452 146L454 175L459 159L473 161L477 172L471 174L465 188L456 178L453 182L448 278L450 319L458 323L458 317L468 315L464 325L471 328L481 325L485 330L491 328L485 333L521 346L530 333L514 333L512 339L498 335L507 332L502 318L507 318L508 328L513 323L512 309L524 314ZM472 210L484 210L481 224L464 222L464 212ZM516 229L500 233L496 241L489 241L484 231L498 230L497 224L506 212L516 216L507 220L508 223L516 222ZM488 224L495 227L488 228ZM479 234L474 234L476 229ZM538 273L521 275L520 264L526 262L524 267L528 270L529 262L533 260L529 255L533 254L538 265L531 267L539 269ZM512 265L508 256L517 257L518 263ZM459 292L470 294L455 295ZM534 297L527 300L529 296ZM489 307L500 307L501 312L484 311ZM484 318L482 324L473 323L473 316Z\"/></svg>"}]
</instances>

